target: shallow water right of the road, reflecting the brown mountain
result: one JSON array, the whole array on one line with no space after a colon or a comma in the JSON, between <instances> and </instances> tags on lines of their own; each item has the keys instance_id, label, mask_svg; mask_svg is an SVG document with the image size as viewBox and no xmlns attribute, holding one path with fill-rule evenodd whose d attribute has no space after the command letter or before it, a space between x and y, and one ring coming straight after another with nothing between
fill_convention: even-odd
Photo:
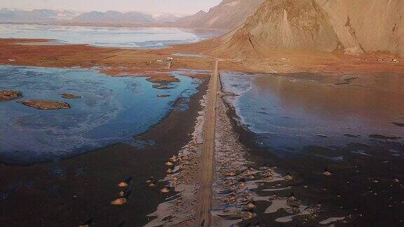
<instances>
[{"instance_id":1,"label":"shallow water right of the road, reflecting the brown mountain","mask_svg":"<svg viewBox=\"0 0 404 227\"><path fill-rule=\"evenodd\" d=\"M402 142L404 81L398 74L222 73L227 97L257 144L280 155L305 146Z\"/></svg>"}]
</instances>

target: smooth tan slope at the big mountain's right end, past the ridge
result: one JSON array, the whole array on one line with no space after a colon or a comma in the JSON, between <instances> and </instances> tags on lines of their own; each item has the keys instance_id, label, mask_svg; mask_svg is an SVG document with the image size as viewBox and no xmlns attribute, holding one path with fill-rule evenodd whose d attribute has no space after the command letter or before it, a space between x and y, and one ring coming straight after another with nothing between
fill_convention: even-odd
<instances>
[{"instance_id":1,"label":"smooth tan slope at the big mountain's right end, past the ridge","mask_svg":"<svg viewBox=\"0 0 404 227\"><path fill-rule=\"evenodd\" d=\"M316 1L330 16L332 27L347 52L404 54L404 1Z\"/></svg>"}]
</instances>

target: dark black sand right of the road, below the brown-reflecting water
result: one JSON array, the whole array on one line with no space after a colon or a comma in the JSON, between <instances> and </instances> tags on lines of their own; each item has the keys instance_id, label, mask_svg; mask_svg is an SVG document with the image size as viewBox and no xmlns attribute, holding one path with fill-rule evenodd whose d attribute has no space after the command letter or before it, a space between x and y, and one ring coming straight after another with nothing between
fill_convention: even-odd
<instances>
[{"instance_id":1,"label":"dark black sand right of the road, below the brown-reflecting water","mask_svg":"<svg viewBox=\"0 0 404 227\"><path fill-rule=\"evenodd\" d=\"M280 197L294 195L302 200L302 204L319 209L315 219L302 216L288 223L278 223L274 221L278 216L263 214L268 204L257 202L254 210L257 217L244 221L243 225L321 226L318 224L320 221L342 216L348 222L337 221L336 226L404 225L402 139L379 138L372 139L368 144L334 148L307 146L296 156L279 158L273 152L257 146L255 135L239 125L234 109L229 109L231 111L228 115L233 119L234 130L248 147L248 157L255 163L255 168L262 165L277 166L278 172L294 177L290 184L291 190L274 193ZM341 154L344 154L344 160L336 160ZM325 176L325 171L330 171L332 175ZM284 216L288 215L283 213Z\"/></svg>"}]
</instances>

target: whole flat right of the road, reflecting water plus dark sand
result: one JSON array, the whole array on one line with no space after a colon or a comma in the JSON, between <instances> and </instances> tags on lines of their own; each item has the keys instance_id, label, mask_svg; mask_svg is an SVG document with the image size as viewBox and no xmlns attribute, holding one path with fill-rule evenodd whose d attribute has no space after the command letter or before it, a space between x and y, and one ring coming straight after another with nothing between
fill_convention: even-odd
<instances>
[{"instance_id":1,"label":"whole flat right of the road, reflecting water plus dark sand","mask_svg":"<svg viewBox=\"0 0 404 227\"><path fill-rule=\"evenodd\" d=\"M403 223L404 131L394 124L404 109L401 76L222 73L229 116L255 168L293 176L287 190L262 185L259 195L309 205L315 219L290 222L301 226L336 217L359 226ZM255 221L276 224L281 213L266 208L259 203Z\"/></svg>"}]
</instances>

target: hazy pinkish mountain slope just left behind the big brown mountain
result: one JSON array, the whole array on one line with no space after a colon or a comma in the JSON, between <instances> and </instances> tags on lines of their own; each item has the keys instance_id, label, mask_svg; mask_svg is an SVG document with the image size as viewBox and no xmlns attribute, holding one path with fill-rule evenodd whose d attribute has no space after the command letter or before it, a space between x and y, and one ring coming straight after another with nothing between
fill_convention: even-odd
<instances>
[{"instance_id":1,"label":"hazy pinkish mountain slope just left behind the big brown mountain","mask_svg":"<svg viewBox=\"0 0 404 227\"><path fill-rule=\"evenodd\" d=\"M185 27L210 29L234 29L253 15L264 0L223 0L208 13L199 11L195 15L180 18L176 24Z\"/></svg>"}]
</instances>

